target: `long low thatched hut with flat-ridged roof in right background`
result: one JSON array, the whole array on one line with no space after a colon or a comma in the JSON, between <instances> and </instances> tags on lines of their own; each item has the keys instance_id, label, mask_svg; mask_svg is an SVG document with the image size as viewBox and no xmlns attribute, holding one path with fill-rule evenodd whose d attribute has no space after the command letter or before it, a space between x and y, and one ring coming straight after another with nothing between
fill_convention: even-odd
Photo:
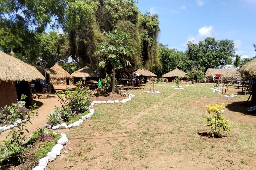
<instances>
[{"instance_id":1,"label":"long low thatched hut with flat-ridged roof in right background","mask_svg":"<svg viewBox=\"0 0 256 170\"><path fill-rule=\"evenodd\" d=\"M238 72L237 69L208 68L204 75L204 81L206 83L212 83L212 78L213 76L215 77L216 74L221 74L221 77L224 78L224 82L232 82L232 80L241 79L241 74Z\"/></svg>"}]
</instances>

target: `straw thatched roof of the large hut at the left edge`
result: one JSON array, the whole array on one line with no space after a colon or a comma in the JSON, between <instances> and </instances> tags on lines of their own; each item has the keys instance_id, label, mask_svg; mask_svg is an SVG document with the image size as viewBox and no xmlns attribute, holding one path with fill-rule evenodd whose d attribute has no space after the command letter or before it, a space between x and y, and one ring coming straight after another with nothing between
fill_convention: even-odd
<instances>
[{"instance_id":1,"label":"straw thatched roof of the large hut at the left edge","mask_svg":"<svg viewBox=\"0 0 256 170\"><path fill-rule=\"evenodd\" d=\"M0 80L2 81L32 81L45 79L37 69L20 59L0 51Z\"/></svg>"}]
</instances>

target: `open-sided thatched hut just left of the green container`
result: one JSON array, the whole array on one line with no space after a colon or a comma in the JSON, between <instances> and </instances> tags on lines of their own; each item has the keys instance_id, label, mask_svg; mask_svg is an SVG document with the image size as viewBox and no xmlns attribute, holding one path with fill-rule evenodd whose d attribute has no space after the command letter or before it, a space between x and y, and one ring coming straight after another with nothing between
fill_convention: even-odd
<instances>
[{"instance_id":1,"label":"open-sided thatched hut just left of the green container","mask_svg":"<svg viewBox=\"0 0 256 170\"><path fill-rule=\"evenodd\" d=\"M84 67L84 68L81 68L80 70L77 70L71 74L71 76L74 78L73 83L75 84L80 79L82 80L84 75L86 77L86 80L89 80L89 78L96 80L96 78L99 77L99 75L97 73L95 73L92 69L90 69L89 67Z\"/></svg>"}]
</instances>

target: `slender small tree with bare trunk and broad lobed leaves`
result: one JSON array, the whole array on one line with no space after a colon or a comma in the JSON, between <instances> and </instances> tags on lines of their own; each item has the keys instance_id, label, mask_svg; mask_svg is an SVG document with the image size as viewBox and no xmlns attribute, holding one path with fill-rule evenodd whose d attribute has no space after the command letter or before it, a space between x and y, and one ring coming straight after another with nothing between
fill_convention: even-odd
<instances>
[{"instance_id":1,"label":"slender small tree with bare trunk and broad lobed leaves","mask_svg":"<svg viewBox=\"0 0 256 170\"><path fill-rule=\"evenodd\" d=\"M137 55L135 49L129 44L129 35L117 29L114 33L103 32L106 36L106 41L101 42L97 46L97 50L93 56L101 57L99 62L100 67L106 65L106 61L109 61L113 66L113 79L112 79L112 92L115 92L115 70L116 66L124 64L125 66L132 66L128 59L133 58L133 55Z\"/></svg>"}]
</instances>

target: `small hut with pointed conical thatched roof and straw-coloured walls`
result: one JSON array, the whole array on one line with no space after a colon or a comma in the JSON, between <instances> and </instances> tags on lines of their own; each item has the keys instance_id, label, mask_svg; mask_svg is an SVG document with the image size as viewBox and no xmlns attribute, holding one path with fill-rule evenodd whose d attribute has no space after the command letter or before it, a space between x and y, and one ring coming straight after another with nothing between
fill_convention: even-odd
<instances>
[{"instance_id":1,"label":"small hut with pointed conical thatched roof and straw-coloured walls","mask_svg":"<svg viewBox=\"0 0 256 170\"><path fill-rule=\"evenodd\" d=\"M50 84L69 85L69 80L71 80L72 77L59 64L55 64L50 69L56 72L55 74L50 73Z\"/></svg>"}]
</instances>

